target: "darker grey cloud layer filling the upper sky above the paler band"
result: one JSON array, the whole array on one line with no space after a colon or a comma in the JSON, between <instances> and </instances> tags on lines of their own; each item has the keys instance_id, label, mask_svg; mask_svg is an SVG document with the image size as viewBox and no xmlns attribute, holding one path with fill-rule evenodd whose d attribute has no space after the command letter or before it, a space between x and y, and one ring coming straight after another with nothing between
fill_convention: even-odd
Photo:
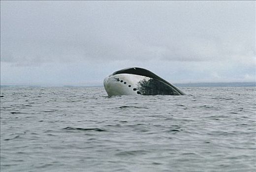
<instances>
[{"instance_id":1,"label":"darker grey cloud layer filling the upper sky above the paler band","mask_svg":"<svg viewBox=\"0 0 256 172\"><path fill-rule=\"evenodd\" d=\"M255 56L254 3L2 1L1 60Z\"/></svg>"}]
</instances>

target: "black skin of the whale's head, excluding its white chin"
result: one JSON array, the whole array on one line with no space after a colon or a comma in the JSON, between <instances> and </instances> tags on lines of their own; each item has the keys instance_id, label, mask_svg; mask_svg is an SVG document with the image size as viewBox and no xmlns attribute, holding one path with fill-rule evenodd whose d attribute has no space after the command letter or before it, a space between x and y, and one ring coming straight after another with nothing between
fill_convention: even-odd
<instances>
[{"instance_id":1,"label":"black skin of the whale's head, excluding its white chin","mask_svg":"<svg viewBox=\"0 0 256 172\"><path fill-rule=\"evenodd\" d=\"M133 74L151 78L148 81L142 80L138 83L137 90L138 93L142 95L185 95L179 88L173 86L147 69L131 67L118 70L112 75L114 76L117 74Z\"/></svg>"}]
</instances>

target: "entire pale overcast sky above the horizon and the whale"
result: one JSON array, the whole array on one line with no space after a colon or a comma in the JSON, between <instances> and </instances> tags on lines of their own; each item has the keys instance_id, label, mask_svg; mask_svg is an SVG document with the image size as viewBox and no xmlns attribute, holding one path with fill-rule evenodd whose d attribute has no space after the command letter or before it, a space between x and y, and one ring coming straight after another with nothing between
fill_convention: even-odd
<instances>
[{"instance_id":1,"label":"entire pale overcast sky above the horizon and the whale","mask_svg":"<svg viewBox=\"0 0 256 172\"><path fill-rule=\"evenodd\" d=\"M255 1L0 1L1 85L255 82Z\"/></svg>"}]
</instances>

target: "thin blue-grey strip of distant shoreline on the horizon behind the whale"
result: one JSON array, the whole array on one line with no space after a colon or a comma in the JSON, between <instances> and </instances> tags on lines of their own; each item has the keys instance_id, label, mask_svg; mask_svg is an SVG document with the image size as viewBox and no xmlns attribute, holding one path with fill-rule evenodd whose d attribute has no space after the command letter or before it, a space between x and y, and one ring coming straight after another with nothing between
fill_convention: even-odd
<instances>
[{"instance_id":1,"label":"thin blue-grey strip of distant shoreline on the horizon behind the whale","mask_svg":"<svg viewBox=\"0 0 256 172\"><path fill-rule=\"evenodd\" d=\"M230 82L230 83L174 83L173 85L179 87L195 87L195 86L256 86L256 82ZM32 86L32 87L102 87L103 85L90 85L90 86L76 86L76 85L0 85L0 87L9 86Z\"/></svg>"}]
</instances>

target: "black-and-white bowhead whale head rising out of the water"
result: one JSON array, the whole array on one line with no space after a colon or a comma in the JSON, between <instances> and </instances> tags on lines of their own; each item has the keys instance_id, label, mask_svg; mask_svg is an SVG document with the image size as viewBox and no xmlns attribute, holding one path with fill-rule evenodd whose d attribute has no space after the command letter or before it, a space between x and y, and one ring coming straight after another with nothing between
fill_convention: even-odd
<instances>
[{"instance_id":1,"label":"black-and-white bowhead whale head rising out of the water","mask_svg":"<svg viewBox=\"0 0 256 172\"><path fill-rule=\"evenodd\" d=\"M131 67L118 70L104 79L104 87L112 95L185 95L153 72Z\"/></svg>"}]
</instances>

